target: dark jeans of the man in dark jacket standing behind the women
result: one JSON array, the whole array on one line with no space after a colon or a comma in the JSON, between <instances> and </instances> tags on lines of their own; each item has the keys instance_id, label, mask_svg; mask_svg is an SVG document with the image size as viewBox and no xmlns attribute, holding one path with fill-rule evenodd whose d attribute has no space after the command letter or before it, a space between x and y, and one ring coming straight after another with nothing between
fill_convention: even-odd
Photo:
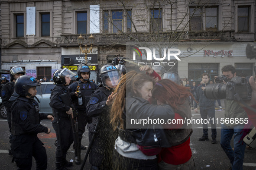
<instances>
[{"instance_id":1,"label":"dark jeans of the man in dark jacket standing behind the women","mask_svg":"<svg viewBox=\"0 0 256 170\"><path fill-rule=\"evenodd\" d=\"M211 109L201 109L200 108L200 115L201 118L203 119L203 132L204 132L204 136L208 137L208 125L207 123L204 124L204 119L209 120L210 119L210 123L211 123L211 137L216 138L217 136L217 130L216 130L216 123L215 123L215 108L211 108ZM209 118L208 118L209 116ZM213 118L213 120L212 120Z\"/></svg>"}]
</instances>

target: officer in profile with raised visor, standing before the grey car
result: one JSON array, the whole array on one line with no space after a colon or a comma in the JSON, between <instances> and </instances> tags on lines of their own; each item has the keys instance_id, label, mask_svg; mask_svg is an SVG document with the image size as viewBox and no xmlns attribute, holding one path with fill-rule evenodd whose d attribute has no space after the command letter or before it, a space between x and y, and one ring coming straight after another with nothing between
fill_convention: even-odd
<instances>
[{"instance_id":1,"label":"officer in profile with raised visor, standing before the grey car","mask_svg":"<svg viewBox=\"0 0 256 170\"><path fill-rule=\"evenodd\" d=\"M53 74L56 86L51 93L50 106L55 117L55 120L52 121L52 127L56 132L58 141L55 155L57 170L65 170L65 167L72 166L72 162L66 161L66 154L73 143L71 121L68 117L69 115L73 117L73 110L63 100L65 98L71 102L70 92L68 91L71 79L76 79L76 75L67 68L58 69ZM61 98L62 96L64 98Z\"/></svg>"}]
</instances>

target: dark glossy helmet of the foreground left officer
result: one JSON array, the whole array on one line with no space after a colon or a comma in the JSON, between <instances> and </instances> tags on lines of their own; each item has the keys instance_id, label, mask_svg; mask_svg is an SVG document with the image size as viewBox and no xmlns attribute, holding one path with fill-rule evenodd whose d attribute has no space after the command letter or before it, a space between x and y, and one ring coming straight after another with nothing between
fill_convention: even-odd
<instances>
[{"instance_id":1,"label":"dark glossy helmet of the foreground left officer","mask_svg":"<svg viewBox=\"0 0 256 170\"><path fill-rule=\"evenodd\" d=\"M37 82L32 76L19 76L15 81L14 90L20 96L31 96L29 88L39 85L41 83Z\"/></svg>"}]
</instances>

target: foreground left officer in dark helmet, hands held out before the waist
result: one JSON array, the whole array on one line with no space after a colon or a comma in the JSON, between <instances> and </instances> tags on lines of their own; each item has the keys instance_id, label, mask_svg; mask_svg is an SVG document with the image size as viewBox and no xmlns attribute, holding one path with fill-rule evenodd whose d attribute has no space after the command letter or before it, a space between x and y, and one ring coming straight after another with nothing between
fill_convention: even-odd
<instances>
[{"instance_id":1,"label":"foreground left officer in dark helmet, hands held out before the waist","mask_svg":"<svg viewBox=\"0 0 256 170\"><path fill-rule=\"evenodd\" d=\"M38 103L34 100L36 86L41 84L31 76L20 76L15 82L16 96L11 107L13 158L17 167L30 170L32 157L36 160L36 169L47 169L47 155L45 147L38 139L37 134L51 130L40 124L40 120L53 120L51 115L39 113Z\"/></svg>"}]
</instances>

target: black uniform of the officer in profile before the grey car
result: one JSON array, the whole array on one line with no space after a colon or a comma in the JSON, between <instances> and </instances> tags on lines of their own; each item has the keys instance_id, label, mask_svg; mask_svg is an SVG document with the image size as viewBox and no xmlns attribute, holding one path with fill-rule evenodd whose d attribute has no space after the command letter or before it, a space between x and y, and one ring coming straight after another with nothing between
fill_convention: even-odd
<instances>
[{"instance_id":1,"label":"black uniform of the officer in profile before the grey car","mask_svg":"<svg viewBox=\"0 0 256 170\"><path fill-rule=\"evenodd\" d=\"M53 108L53 116L54 120L52 121L52 127L56 132L57 140L58 140L58 145L56 148L56 167L57 169L60 169L62 166L64 166L67 161L66 161L66 154L67 151L70 147L70 145L73 143L73 132L72 132L72 127L71 127L71 121L70 118L68 117L68 114L66 111L70 109L70 107L66 104L64 104L59 97L61 94L67 93L68 94L68 99L71 100L70 92L68 91L68 87L64 85L56 85L51 93L51 98L50 98L50 106ZM59 113L59 123L60 123L60 129L61 129L61 143L62 146L60 146L59 138L58 138L58 125L57 125L57 120L56 120L56 112ZM63 152L63 155L61 155L61 149Z\"/></svg>"}]
</instances>

